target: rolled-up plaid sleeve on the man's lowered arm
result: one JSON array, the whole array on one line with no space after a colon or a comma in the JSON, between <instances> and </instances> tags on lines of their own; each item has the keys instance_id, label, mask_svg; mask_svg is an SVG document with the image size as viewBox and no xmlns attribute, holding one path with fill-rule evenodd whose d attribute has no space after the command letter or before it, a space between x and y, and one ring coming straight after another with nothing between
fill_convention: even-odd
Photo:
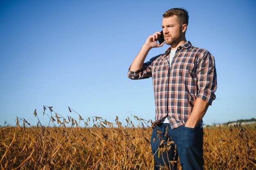
<instances>
[{"instance_id":1,"label":"rolled-up plaid sleeve on the man's lowered arm","mask_svg":"<svg viewBox=\"0 0 256 170\"><path fill-rule=\"evenodd\" d=\"M208 51L204 51L198 57L197 65L198 95L197 97L211 105L216 98L217 73L214 57Z\"/></svg>"}]
</instances>

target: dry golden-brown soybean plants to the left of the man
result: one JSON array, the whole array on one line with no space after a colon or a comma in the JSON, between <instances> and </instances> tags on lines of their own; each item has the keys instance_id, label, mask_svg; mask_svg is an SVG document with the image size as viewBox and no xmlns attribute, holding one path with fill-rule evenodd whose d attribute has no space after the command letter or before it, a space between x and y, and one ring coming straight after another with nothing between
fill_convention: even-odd
<instances>
[{"instance_id":1,"label":"dry golden-brown soybean plants to the left of the man","mask_svg":"<svg viewBox=\"0 0 256 170\"><path fill-rule=\"evenodd\" d=\"M135 127L128 117L127 124L123 126L118 117L115 123L101 117L83 119L69 107L70 112L79 115L79 121L76 121L71 116L64 118L52 107L43 107L43 114L49 117L48 126L40 123L35 110L36 126L17 117L16 127L0 129L2 170L142 170L152 167L147 139L150 128L146 125L149 122L144 119L134 116L140 124ZM92 127L88 126L89 122L93 122ZM79 126L81 123L84 128Z\"/></svg>"}]
</instances>

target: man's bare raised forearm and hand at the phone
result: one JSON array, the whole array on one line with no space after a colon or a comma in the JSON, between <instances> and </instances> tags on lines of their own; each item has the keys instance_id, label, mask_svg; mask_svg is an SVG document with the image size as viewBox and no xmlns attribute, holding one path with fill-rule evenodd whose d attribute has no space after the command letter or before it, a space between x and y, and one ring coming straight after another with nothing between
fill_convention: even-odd
<instances>
[{"instance_id":1,"label":"man's bare raised forearm and hand at the phone","mask_svg":"<svg viewBox=\"0 0 256 170\"><path fill-rule=\"evenodd\" d=\"M158 48L158 47L161 47L164 45L164 42L162 44L157 43L156 40L158 38L158 35L161 35L161 33L156 32L147 38L145 44L142 46L141 50L139 51L139 53L133 60L131 66L130 66L130 71L136 72L136 71L141 70L141 68L143 67L144 60L145 60L146 56L148 55L148 52L150 51L150 49Z\"/></svg>"}]
</instances>

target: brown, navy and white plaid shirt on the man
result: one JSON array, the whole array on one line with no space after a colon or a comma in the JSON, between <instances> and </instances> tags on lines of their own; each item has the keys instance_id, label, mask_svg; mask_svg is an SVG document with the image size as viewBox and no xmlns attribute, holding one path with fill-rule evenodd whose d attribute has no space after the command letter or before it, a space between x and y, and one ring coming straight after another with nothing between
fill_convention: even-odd
<instances>
[{"instance_id":1,"label":"brown, navy and white plaid shirt on the man","mask_svg":"<svg viewBox=\"0 0 256 170\"><path fill-rule=\"evenodd\" d=\"M168 116L171 128L185 125L195 99L211 105L217 89L214 57L188 41L177 48L171 62L171 47L143 64L139 71L128 71L130 79L152 77L155 97L155 121ZM202 121L199 124L202 126Z\"/></svg>"}]
</instances>

